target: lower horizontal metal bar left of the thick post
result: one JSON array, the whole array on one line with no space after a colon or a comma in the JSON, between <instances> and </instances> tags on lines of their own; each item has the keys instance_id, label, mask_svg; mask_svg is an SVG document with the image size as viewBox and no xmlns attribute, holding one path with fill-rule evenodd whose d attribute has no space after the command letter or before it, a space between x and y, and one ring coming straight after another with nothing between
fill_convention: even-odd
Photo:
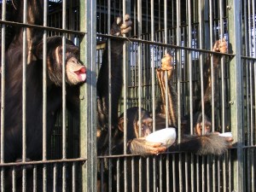
<instances>
[{"instance_id":1,"label":"lower horizontal metal bar left of the thick post","mask_svg":"<svg viewBox=\"0 0 256 192\"><path fill-rule=\"evenodd\" d=\"M38 165L38 164L52 164L52 163L66 163L66 162L84 162L87 159L85 158L77 158L77 159L61 159L61 160L34 160L34 161L26 161L26 162L14 162L14 163L0 163L0 167L2 166L26 166L26 165Z\"/></svg>"}]
</instances>

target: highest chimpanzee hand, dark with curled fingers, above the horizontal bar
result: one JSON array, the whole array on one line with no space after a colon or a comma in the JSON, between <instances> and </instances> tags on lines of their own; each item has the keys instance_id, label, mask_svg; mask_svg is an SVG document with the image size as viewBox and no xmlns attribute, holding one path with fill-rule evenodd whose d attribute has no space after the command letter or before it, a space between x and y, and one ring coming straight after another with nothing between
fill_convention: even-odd
<instances>
[{"instance_id":1,"label":"highest chimpanzee hand, dark with curled fingers, above the horizontal bar","mask_svg":"<svg viewBox=\"0 0 256 192\"><path fill-rule=\"evenodd\" d=\"M124 20L122 17L117 17L113 21L110 34L119 36L131 32L131 25L130 15L126 14Z\"/></svg>"}]
</instances>

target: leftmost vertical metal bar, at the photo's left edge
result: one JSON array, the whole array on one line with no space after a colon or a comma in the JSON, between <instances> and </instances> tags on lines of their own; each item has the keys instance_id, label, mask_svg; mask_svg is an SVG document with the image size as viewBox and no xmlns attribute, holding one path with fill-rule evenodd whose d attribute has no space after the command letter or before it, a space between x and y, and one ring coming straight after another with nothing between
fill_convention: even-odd
<instances>
[{"instance_id":1,"label":"leftmost vertical metal bar, at the photo's left edge","mask_svg":"<svg viewBox=\"0 0 256 192\"><path fill-rule=\"evenodd\" d=\"M2 20L6 19L6 1L2 2ZM5 113L5 32L6 26L2 25L1 31L1 163L4 163L4 113ZM1 191L4 192L4 167L1 167Z\"/></svg>"}]
</instances>

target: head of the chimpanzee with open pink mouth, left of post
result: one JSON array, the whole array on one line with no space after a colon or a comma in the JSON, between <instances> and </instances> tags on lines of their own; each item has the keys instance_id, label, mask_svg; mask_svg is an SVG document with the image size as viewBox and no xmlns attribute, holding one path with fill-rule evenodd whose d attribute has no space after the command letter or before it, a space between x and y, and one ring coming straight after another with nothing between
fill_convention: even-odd
<instances>
[{"instance_id":1,"label":"head of the chimpanzee with open pink mouth, left of post","mask_svg":"<svg viewBox=\"0 0 256 192\"><path fill-rule=\"evenodd\" d=\"M49 79L56 85L62 84L62 38L47 38L47 69ZM43 59L43 42L36 50L38 59ZM83 83L86 79L86 68L79 62L79 48L72 41L66 40L66 81L67 84Z\"/></svg>"}]
</instances>

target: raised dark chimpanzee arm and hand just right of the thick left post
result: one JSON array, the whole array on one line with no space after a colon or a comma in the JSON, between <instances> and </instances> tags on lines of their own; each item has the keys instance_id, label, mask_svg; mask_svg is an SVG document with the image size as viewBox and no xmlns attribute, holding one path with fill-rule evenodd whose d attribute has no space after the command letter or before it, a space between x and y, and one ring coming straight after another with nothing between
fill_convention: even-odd
<instances>
[{"instance_id":1,"label":"raised dark chimpanzee arm and hand just right of the thick left post","mask_svg":"<svg viewBox=\"0 0 256 192\"><path fill-rule=\"evenodd\" d=\"M123 21L120 17L113 22L111 35L122 35L131 31L131 20L125 15ZM111 40L111 106L112 125L118 123L119 97L123 86L123 44L117 39ZM108 44L102 57L102 67L97 81L97 115L101 127L108 126Z\"/></svg>"}]
</instances>

